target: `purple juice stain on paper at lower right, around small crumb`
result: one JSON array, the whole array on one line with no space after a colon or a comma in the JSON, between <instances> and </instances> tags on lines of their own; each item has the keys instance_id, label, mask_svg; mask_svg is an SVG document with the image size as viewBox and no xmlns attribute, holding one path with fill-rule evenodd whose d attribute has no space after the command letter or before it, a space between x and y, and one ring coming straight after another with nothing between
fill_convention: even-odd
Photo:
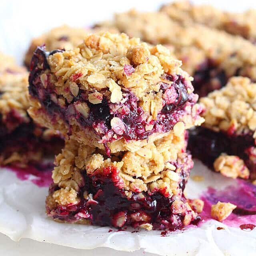
<instances>
[{"instance_id":1,"label":"purple juice stain on paper at lower right, around small crumb","mask_svg":"<svg viewBox=\"0 0 256 256\"><path fill-rule=\"evenodd\" d=\"M201 197L204 201L204 210L200 215L202 220L211 218L211 206L220 202L230 202L237 208L223 221L230 227L242 230L253 230L256 226L256 186L244 180L237 180L236 185L228 186L223 190L208 188Z\"/></svg>"}]
</instances>

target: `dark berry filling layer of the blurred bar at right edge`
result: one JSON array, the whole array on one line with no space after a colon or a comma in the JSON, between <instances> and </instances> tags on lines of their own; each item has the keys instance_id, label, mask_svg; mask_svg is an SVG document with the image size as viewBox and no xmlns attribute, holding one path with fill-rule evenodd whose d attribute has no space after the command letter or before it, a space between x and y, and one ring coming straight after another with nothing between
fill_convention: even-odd
<instances>
[{"instance_id":1,"label":"dark berry filling layer of the blurred bar at right edge","mask_svg":"<svg viewBox=\"0 0 256 256\"><path fill-rule=\"evenodd\" d=\"M209 168L213 168L213 163L220 154L226 153L244 160L250 170L250 178L256 174L256 162L253 162L250 157L254 146L252 134L236 136L214 132L203 127L191 130L188 140L188 149L192 152L192 156L201 160Z\"/></svg>"}]
</instances>

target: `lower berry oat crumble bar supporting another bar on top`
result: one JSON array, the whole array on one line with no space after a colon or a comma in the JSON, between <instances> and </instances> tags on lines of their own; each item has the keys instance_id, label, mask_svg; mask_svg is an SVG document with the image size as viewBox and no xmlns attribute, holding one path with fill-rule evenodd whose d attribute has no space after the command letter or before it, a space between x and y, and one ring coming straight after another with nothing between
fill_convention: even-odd
<instances>
[{"instance_id":1,"label":"lower berry oat crumble bar supporting another bar on top","mask_svg":"<svg viewBox=\"0 0 256 256\"><path fill-rule=\"evenodd\" d=\"M183 194L193 167L185 149L186 139L173 133L111 159L102 150L68 141L56 157L47 215L61 222L147 230L196 223L200 217Z\"/></svg>"}]
</instances>

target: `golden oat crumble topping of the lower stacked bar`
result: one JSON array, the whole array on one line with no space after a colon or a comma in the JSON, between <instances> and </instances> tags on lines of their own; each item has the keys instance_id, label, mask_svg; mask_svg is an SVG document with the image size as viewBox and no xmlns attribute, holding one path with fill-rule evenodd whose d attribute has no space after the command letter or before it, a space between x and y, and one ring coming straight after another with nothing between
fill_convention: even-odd
<instances>
[{"instance_id":1,"label":"golden oat crumble topping of the lower stacked bar","mask_svg":"<svg viewBox=\"0 0 256 256\"><path fill-rule=\"evenodd\" d=\"M186 153L182 153L184 148L186 148L184 134L182 137L177 137L174 133L170 133L136 152L117 153L110 160L101 150L84 146L73 140L67 141L62 153L56 156L56 167L52 174L54 183L65 190L62 192L57 190L54 196L60 202L69 200L71 203L76 197L69 195L67 191L71 191L71 188L78 190L82 172L86 171L90 175L96 170L102 171L109 166L115 166L120 172L119 176L124 182L128 197L131 192L154 192L159 189L164 189L170 197L181 196L180 166L186 160ZM177 163L178 167L176 168L173 163ZM64 195L66 198L63 198Z\"/></svg>"}]
</instances>

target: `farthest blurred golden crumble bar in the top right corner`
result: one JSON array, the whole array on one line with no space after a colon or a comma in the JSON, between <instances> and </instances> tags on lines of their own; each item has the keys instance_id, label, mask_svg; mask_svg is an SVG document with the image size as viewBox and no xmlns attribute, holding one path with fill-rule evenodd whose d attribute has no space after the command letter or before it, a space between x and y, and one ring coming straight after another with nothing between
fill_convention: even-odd
<instances>
[{"instance_id":1,"label":"farthest blurred golden crumble bar in the top right corner","mask_svg":"<svg viewBox=\"0 0 256 256\"><path fill-rule=\"evenodd\" d=\"M189 1L178 1L162 6L161 12L185 26L192 23L225 30L256 43L256 10L242 13L224 12L210 5L194 5Z\"/></svg>"}]
</instances>

